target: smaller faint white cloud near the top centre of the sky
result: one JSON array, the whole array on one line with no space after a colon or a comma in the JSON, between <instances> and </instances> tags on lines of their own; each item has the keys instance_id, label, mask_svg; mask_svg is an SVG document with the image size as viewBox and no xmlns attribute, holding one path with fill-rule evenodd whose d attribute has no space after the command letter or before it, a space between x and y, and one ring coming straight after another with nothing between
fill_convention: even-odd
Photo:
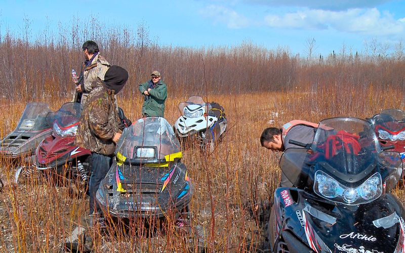
<instances>
[{"instance_id":1,"label":"smaller faint white cloud near the top centre of the sky","mask_svg":"<svg viewBox=\"0 0 405 253\"><path fill-rule=\"evenodd\" d=\"M232 29L244 28L251 24L245 16L218 5L210 5L200 10L200 14L206 18L211 18L215 23L225 23L228 28Z\"/></svg>"}]
</instances>

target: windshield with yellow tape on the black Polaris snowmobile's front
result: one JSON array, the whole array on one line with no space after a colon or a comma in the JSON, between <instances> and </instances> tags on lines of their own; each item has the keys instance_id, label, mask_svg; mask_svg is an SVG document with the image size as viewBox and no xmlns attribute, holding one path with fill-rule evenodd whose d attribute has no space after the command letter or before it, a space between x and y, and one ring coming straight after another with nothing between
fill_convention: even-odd
<instances>
[{"instance_id":1,"label":"windshield with yellow tape on the black Polaris snowmobile's front","mask_svg":"<svg viewBox=\"0 0 405 253\"><path fill-rule=\"evenodd\" d=\"M140 118L126 128L116 147L116 155L143 162L169 161L181 155L180 143L172 126L162 117ZM131 161L132 162L132 161Z\"/></svg>"}]
</instances>

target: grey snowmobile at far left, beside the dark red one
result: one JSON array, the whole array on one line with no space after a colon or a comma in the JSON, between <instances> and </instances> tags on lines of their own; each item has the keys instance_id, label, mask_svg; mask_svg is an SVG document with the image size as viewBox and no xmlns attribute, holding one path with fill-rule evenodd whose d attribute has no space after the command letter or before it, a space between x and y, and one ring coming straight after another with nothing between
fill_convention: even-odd
<instances>
[{"instance_id":1,"label":"grey snowmobile at far left, beside the dark red one","mask_svg":"<svg viewBox=\"0 0 405 253\"><path fill-rule=\"evenodd\" d=\"M38 144L52 132L45 120L50 111L48 104L28 103L17 128L1 141L0 156L17 164L29 162Z\"/></svg>"}]
</instances>

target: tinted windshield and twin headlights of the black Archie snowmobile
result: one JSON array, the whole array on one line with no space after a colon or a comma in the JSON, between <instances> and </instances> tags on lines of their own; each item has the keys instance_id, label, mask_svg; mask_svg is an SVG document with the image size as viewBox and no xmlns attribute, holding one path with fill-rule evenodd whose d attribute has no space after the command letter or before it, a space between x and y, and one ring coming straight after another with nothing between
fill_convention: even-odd
<instances>
[{"instance_id":1,"label":"tinted windshield and twin headlights of the black Archie snowmobile","mask_svg":"<svg viewBox=\"0 0 405 253\"><path fill-rule=\"evenodd\" d=\"M377 199L402 173L399 153L381 150L368 121L348 117L322 120L312 147L287 149L280 167L297 187L348 205Z\"/></svg>"}]
</instances>

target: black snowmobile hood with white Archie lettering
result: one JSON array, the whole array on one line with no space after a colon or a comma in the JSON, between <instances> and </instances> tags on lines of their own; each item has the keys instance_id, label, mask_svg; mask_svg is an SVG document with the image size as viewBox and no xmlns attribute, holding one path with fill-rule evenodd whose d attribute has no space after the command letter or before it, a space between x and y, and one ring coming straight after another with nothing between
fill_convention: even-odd
<instances>
[{"instance_id":1,"label":"black snowmobile hood with white Archie lettering","mask_svg":"<svg viewBox=\"0 0 405 253\"><path fill-rule=\"evenodd\" d=\"M278 188L275 195L277 205L292 217L284 229L315 252L403 252L405 214L391 194L352 207L321 203L291 188Z\"/></svg>"}]
</instances>

